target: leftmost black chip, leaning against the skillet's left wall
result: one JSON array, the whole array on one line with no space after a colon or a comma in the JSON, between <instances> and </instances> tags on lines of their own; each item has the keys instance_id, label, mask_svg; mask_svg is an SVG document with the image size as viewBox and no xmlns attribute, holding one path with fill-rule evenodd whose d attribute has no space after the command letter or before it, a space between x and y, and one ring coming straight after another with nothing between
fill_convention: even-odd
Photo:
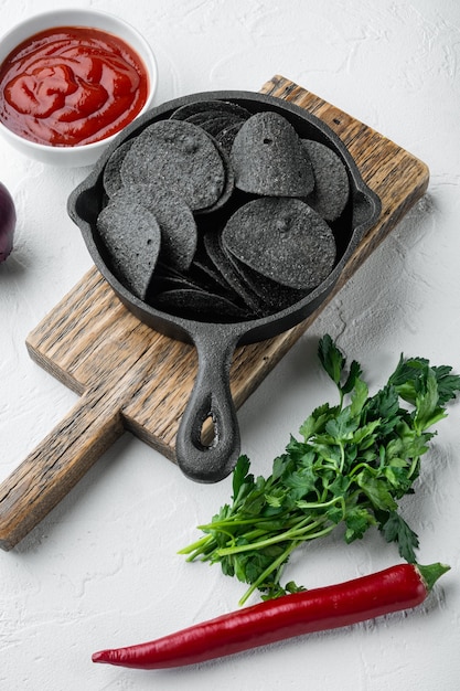
<instances>
[{"instance_id":1,"label":"leftmost black chip, leaning against the skillet's left wall","mask_svg":"<svg viewBox=\"0 0 460 691\"><path fill-rule=\"evenodd\" d=\"M114 274L133 295L145 299L160 253L161 231L145 206L110 201L97 217Z\"/></svg>"}]
</instances>

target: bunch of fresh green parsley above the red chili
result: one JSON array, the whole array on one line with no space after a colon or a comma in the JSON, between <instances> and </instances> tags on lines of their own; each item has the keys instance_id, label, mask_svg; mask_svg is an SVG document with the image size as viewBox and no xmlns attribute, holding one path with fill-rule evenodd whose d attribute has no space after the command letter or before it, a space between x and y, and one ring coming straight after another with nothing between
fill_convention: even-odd
<instances>
[{"instance_id":1,"label":"bunch of fresh green parsley above the red chili","mask_svg":"<svg viewBox=\"0 0 460 691\"><path fill-rule=\"evenodd\" d=\"M180 552L188 561L220 563L225 575L250 584L240 604L256 589L264 599L303 589L280 584L291 552L339 524L346 543L376 525L403 559L416 562L418 538L398 513L398 501L414 492L420 457L436 434L431 428L447 416L460 376L450 366L402 355L385 386L370 396L361 365L346 368L330 336L321 339L318 355L339 404L311 413L301 439L291 436L269 477L255 478L249 459L240 456L232 503L200 525L204 536Z\"/></svg>"}]
</instances>

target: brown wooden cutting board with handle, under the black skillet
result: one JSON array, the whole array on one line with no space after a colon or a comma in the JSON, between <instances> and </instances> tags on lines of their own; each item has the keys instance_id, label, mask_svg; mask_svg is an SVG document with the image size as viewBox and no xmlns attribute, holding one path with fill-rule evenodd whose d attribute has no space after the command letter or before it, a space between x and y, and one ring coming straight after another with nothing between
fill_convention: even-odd
<instances>
[{"instance_id":1,"label":"brown wooden cutting board with handle, under the black skillet","mask_svg":"<svg viewBox=\"0 0 460 691\"><path fill-rule=\"evenodd\" d=\"M429 180L420 160L289 79L275 76L260 91L310 110L341 137L364 181L379 195L382 214L320 309L290 331L237 349L231 373L236 407L424 194ZM0 486L3 550L22 540L125 430L173 460L196 374L194 348L140 323L96 268L39 323L26 346L41 366L81 398Z\"/></svg>"}]
</instances>

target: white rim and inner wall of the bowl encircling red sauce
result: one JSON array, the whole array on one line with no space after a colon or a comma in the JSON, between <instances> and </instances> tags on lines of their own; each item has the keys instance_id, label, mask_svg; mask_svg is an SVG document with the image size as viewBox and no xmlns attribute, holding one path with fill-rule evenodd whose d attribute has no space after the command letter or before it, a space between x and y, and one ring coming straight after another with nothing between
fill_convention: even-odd
<instances>
[{"instance_id":1,"label":"white rim and inner wall of the bowl encircling red sauce","mask_svg":"<svg viewBox=\"0 0 460 691\"><path fill-rule=\"evenodd\" d=\"M69 20L66 21L66 18L69 18ZM96 18L97 20L99 20L100 24L93 25L92 18ZM104 21L107 21L107 20L110 22L110 24L113 24L113 26L110 26L109 29L103 25ZM35 23L38 23L39 26L35 28L34 26ZM122 39L125 42L130 43L129 39L121 36L117 33L116 28L119 26L119 28L125 28L127 30L127 33L131 34L136 39L136 42L138 42L139 46L141 46L142 52L140 52L140 50L135 45L130 44L130 47L138 54L138 57L142 61L147 70L147 74L149 78L149 91L148 91L146 103L143 104L141 110L138 113L135 119L140 117L141 115L145 115L145 113L149 110L149 108L151 107L153 97L157 93L157 87L158 87L157 59L156 59L156 55L153 53L153 50L150 43L147 41L143 34L129 21L125 20L118 14L114 14L113 12L106 12L104 10L93 10L92 8L77 8L77 7L63 8L63 9L56 9L56 10L46 10L44 12L36 12L35 14L32 14L31 17L28 17L23 19L22 21L15 23L13 26L11 26L9 30L7 30L4 33L0 35L0 65L3 64L4 60L11 53L11 51L13 51L14 47L22 41L25 41L28 38L32 38L35 33L39 33L45 30L46 28L53 29L53 28L64 26L64 25L67 25L67 26L81 25L81 26L99 29L101 31L106 31L107 33L117 35L118 38ZM30 28L30 32L25 31L28 28ZM11 39L15 34L21 34L21 36L12 41ZM6 45L7 45L7 49L4 50ZM128 123L127 126L131 125L132 121L133 120ZM0 131L6 137L9 137L12 142L14 142L18 147L22 149L29 148L35 152L42 152L43 156L53 155L56 158L58 158L60 156L68 155L69 151L75 151L76 152L75 155L77 155L77 152L83 152L83 151L85 153L89 153L90 151L96 152L100 148L108 146L120 134L121 130L115 132L114 135L110 135L109 137L105 137L104 139L100 139L99 141L93 141L90 143L84 143L84 145L78 145L78 146L62 146L62 147L53 147L53 145L40 143L36 141L32 141L30 139L26 139L25 137L21 137L20 135L17 135L14 131L9 129L1 120L0 120Z\"/></svg>"}]
</instances>

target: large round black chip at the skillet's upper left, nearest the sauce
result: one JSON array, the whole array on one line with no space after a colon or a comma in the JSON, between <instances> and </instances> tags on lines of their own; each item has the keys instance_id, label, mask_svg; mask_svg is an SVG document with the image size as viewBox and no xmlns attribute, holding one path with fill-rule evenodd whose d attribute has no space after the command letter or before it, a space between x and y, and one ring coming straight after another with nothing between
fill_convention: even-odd
<instances>
[{"instance_id":1,"label":"large round black chip at the skillet's upper left, nearest the sauce","mask_svg":"<svg viewBox=\"0 0 460 691\"><path fill-rule=\"evenodd\" d=\"M192 210L212 206L226 181L222 156L211 137L183 120L158 120L137 137L121 163L125 185L157 181Z\"/></svg>"}]
</instances>

